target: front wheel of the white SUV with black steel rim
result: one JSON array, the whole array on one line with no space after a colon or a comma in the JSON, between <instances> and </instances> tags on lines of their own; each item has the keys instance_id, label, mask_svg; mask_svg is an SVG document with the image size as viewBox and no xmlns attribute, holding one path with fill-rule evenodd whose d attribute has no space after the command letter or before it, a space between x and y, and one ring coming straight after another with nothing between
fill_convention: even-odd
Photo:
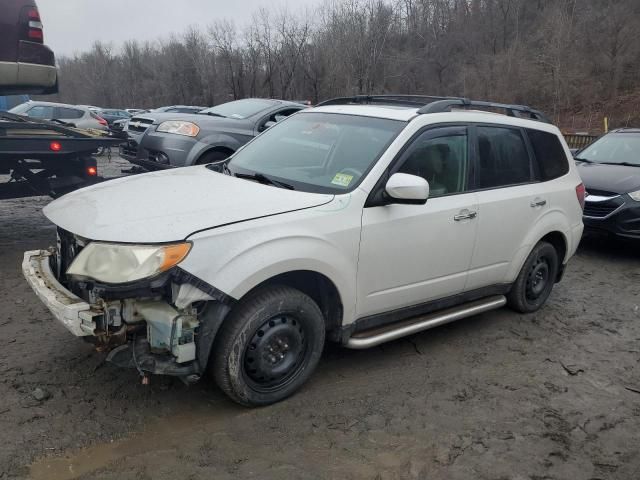
<instances>
[{"instance_id":1,"label":"front wheel of the white SUV with black steel rim","mask_svg":"<svg viewBox=\"0 0 640 480\"><path fill-rule=\"evenodd\" d=\"M324 338L322 312L310 297L286 286L261 288L240 300L223 323L211 374L241 405L279 402L311 376Z\"/></svg>"}]
</instances>

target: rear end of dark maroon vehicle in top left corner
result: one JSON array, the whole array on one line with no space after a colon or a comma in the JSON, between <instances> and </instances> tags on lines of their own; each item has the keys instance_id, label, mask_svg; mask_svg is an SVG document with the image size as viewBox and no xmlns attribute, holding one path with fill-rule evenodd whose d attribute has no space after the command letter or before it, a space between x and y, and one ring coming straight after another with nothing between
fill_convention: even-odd
<instances>
[{"instance_id":1,"label":"rear end of dark maroon vehicle in top left corner","mask_svg":"<svg viewBox=\"0 0 640 480\"><path fill-rule=\"evenodd\" d=\"M0 94L58 91L55 56L44 45L34 0L0 0Z\"/></svg>"}]
</instances>

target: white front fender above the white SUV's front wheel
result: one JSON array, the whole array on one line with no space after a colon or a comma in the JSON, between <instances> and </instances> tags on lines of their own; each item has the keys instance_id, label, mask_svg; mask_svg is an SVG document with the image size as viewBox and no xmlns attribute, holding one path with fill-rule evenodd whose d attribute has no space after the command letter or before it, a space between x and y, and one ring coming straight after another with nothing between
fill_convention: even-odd
<instances>
[{"instance_id":1,"label":"white front fender above the white SUV's front wheel","mask_svg":"<svg viewBox=\"0 0 640 480\"><path fill-rule=\"evenodd\" d=\"M355 314L359 203L346 197L285 215L195 234L180 267L234 299L277 275L316 272L335 285L349 322Z\"/></svg>"}]
</instances>

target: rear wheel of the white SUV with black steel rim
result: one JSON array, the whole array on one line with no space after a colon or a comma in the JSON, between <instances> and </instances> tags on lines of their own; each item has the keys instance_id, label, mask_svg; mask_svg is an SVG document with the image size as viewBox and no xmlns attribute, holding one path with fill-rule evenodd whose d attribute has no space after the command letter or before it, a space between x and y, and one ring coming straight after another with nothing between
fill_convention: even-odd
<instances>
[{"instance_id":1,"label":"rear wheel of the white SUV with black steel rim","mask_svg":"<svg viewBox=\"0 0 640 480\"><path fill-rule=\"evenodd\" d=\"M549 298L558 276L558 252L547 242L539 242L520 270L507 304L520 313L538 310Z\"/></svg>"}]
</instances>

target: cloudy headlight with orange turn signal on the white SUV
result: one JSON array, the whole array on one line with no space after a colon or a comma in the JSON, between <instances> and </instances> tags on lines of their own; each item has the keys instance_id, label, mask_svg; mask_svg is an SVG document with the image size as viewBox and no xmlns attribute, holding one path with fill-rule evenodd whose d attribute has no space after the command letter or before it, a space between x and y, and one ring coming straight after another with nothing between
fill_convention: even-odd
<instances>
[{"instance_id":1,"label":"cloudy headlight with orange turn signal on the white SUV","mask_svg":"<svg viewBox=\"0 0 640 480\"><path fill-rule=\"evenodd\" d=\"M92 242L75 258L67 274L104 283L134 282L176 266L189 250L188 242L161 246Z\"/></svg>"}]
</instances>

